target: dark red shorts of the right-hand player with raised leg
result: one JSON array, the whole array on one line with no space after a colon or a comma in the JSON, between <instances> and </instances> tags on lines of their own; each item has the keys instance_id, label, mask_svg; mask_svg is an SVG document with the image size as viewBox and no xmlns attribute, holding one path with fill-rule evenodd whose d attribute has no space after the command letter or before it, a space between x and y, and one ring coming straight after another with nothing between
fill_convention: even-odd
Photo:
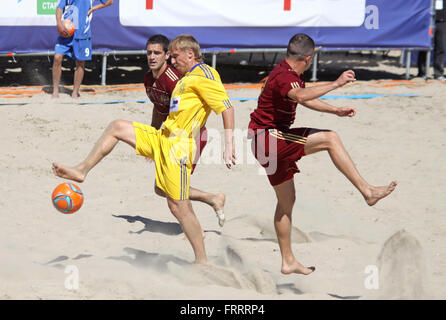
<instances>
[{"instance_id":1,"label":"dark red shorts of the right-hand player with raised leg","mask_svg":"<svg viewBox=\"0 0 446 320\"><path fill-rule=\"evenodd\" d=\"M293 128L286 131L258 129L252 138L251 149L257 161L265 168L272 186L279 185L300 172L296 162L305 155L305 143L311 128Z\"/></svg>"}]
</instances>

